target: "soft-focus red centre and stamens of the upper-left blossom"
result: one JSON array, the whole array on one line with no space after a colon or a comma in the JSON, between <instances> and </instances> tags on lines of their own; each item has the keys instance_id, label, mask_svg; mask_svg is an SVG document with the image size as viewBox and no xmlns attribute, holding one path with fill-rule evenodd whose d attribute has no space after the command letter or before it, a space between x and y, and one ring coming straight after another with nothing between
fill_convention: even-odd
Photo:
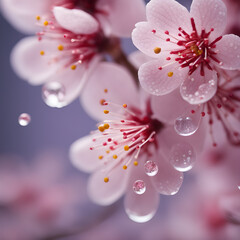
<instances>
[{"instance_id":1,"label":"soft-focus red centre and stamens of the upper-left blossom","mask_svg":"<svg viewBox=\"0 0 240 240\"><path fill-rule=\"evenodd\" d=\"M88 63L96 54L103 51L106 38L101 30L92 34L75 34L60 27L56 22L37 17L43 30L37 33L39 41L45 39L56 42L56 51L50 53L51 63L62 62L64 67L75 70L78 65ZM45 49L40 55L46 55Z\"/></svg>"}]
</instances>

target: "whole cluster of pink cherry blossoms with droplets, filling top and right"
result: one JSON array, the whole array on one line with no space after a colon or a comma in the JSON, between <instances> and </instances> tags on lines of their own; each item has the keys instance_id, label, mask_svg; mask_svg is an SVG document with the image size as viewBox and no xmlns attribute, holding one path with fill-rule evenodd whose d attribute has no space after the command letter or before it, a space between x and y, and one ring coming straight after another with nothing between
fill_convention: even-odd
<instances>
[{"instance_id":1,"label":"whole cluster of pink cherry blossoms with droplets, filling top and right","mask_svg":"<svg viewBox=\"0 0 240 240\"><path fill-rule=\"evenodd\" d=\"M158 210L160 194L178 193L183 172L196 164L197 180L179 203L192 210L179 213L184 220L176 230L197 218L196 232L205 229L198 239L221 239L214 233L218 227L230 236L226 225L240 223L234 215L239 204L232 209L240 184L240 38L226 28L230 20L222 0L193 0L190 11L175 0L147 5L142 0L2 0L1 7L17 29L37 32L12 51L17 75L43 85L50 107L80 97L98 121L69 153L76 168L91 173L89 198L106 206L124 196L128 217L147 222ZM139 50L129 56L121 46L126 37ZM209 152L215 155L204 157ZM219 191L210 168L221 168L216 178L230 169ZM171 213L167 219L164 226L171 232L176 222ZM179 232L162 239L175 239Z\"/></svg>"}]
</instances>

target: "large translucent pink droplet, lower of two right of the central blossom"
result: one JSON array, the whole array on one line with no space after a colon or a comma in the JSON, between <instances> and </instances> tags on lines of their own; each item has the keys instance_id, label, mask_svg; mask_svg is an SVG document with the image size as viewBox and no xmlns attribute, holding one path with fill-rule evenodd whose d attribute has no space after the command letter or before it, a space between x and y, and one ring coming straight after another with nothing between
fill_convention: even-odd
<instances>
[{"instance_id":1,"label":"large translucent pink droplet, lower of two right of the central blossom","mask_svg":"<svg viewBox=\"0 0 240 240\"><path fill-rule=\"evenodd\" d=\"M196 160L193 147L188 143L178 143L174 145L170 152L170 163L180 171L186 172L192 169Z\"/></svg>"}]
</instances>

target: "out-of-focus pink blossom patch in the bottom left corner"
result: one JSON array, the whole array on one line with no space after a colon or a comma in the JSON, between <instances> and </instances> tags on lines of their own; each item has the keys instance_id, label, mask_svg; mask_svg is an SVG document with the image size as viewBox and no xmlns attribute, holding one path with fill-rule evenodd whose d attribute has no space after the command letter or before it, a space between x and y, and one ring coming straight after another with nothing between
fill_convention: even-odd
<instances>
[{"instance_id":1,"label":"out-of-focus pink blossom patch in the bottom left corner","mask_svg":"<svg viewBox=\"0 0 240 240\"><path fill-rule=\"evenodd\" d=\"M1 239L39 239L83 218L77 211L87 203L84 179L70 176L57 154L42 154L32 163L11 156L0 161Z\"/></svg>"}]
</instances>

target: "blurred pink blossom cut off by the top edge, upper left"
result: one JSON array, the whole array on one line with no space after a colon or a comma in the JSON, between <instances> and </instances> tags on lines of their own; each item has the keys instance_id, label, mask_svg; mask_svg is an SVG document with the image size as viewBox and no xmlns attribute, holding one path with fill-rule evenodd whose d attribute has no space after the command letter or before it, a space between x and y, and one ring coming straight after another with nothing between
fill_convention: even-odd
<instances>
[{"instance_id":1,"label":"blurred pink blossom cut off by the top edge, upper left","mask_svg":"<svg viewBox=\"0 0 240 240\"><path fill-rule=\"evenodd\" d=\"M39 31L34 19L48 18L52 15L55 6L75 8L82 15L84 15L83 11L87 12L97 18L105 32L118 37L129 37L134 24L145 18L143 0L1 0L1 2L6 19L25 33ZM65 20L68 24L68 19Z\"/></svg>"}]
</instances>

